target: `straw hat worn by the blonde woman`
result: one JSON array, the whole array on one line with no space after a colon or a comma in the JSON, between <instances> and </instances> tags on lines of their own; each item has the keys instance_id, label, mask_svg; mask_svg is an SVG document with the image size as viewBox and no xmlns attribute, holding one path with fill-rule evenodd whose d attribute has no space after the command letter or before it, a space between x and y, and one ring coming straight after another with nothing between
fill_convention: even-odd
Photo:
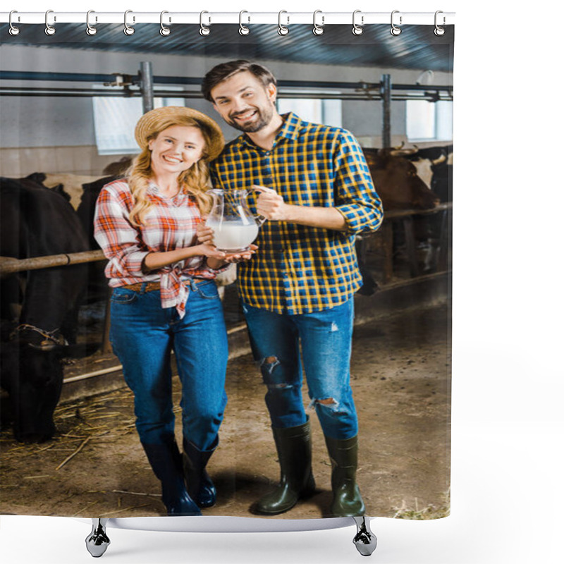
<instances>
[{"instance_id":1,"label":"straw hat worn by the blonde woman","mask_svg":"<svg viewBox=\"0 0 564 564\"><path fill-rule=\"evenodd\" d=\"M225 145L223 133L219 125L212 118L202 114L201 111L185 108L184 106L164 106L164 108L155 108L154 110L147 111L147 114L144 114L137 121L137 125L135 125L137 145L145 149L148 145L147 137L161 127L163 121L179 121L181 118L192 118L197 121L202 129L207 131L210 146L207 148L208 157L206 160L213 161L218 157Z\"/></svg>"}]
</instances>

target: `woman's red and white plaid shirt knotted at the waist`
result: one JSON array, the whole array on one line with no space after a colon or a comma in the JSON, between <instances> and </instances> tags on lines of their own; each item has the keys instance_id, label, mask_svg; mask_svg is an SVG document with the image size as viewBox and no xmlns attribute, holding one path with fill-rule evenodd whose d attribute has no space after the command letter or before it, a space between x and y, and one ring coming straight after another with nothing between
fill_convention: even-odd
<instances>
[{"instance_id":1,"label":"woman's red and white plaid shirt knotted at the waist","mask_svg":"<svg viewBox=\"0 0 564 564\"><path fill-rule=\"evenodd\" d=\"M223 268L211 269L205 257L197 256L144 272L142 264L149 252L196 245L196 226L202 221L195 198L188 193L181 191L167 199L156 184L149 183L147 197L152 207L145 216L145 225L135 227L128 218L134 202L127 180L106 184L96 202L94 238L109 259L105 270L109 286L159 281L161 306L176 307L182 318L189 291L183 281L215 278Z\"/></svg>"}]
</instances>

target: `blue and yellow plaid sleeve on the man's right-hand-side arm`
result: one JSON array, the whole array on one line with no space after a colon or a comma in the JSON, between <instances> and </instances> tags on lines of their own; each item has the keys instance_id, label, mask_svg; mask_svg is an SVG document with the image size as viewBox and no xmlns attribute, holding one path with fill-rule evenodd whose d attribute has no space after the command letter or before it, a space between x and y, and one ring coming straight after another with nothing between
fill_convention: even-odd
<instances>
[{"instance_id":1,"label":"blue and yellow plaid sleeve on the man's right-hand-side arm","mask_svg":"<svg viewBox=\"0 0 564 564\"><path fill-rule=\"evenodd\" d=\"M355 235L376 231L384 209L362 148L348 131L343 130L336 139L333 163L336 209L343 214L347 231Z\"/></svg>"}]
</instances>

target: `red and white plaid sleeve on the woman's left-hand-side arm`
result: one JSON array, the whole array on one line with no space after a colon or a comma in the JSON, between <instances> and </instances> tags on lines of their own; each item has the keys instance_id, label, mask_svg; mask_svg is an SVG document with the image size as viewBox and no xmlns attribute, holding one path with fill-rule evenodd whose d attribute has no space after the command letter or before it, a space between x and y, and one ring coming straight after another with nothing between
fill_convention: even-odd
<instances>
[{"instance_id":1,"label":"red and white plaid sleeve on the woman's left-hand-side arm","mask_svg":"<svg viewBox=\"0 0 564 564\"><path fill-rule=\"evenodd\" d=\"M103 188L96 202L94 238L109 259L106 276L125 278L143 276L143 260L149 250L142 244L139 231L128 219L123 198Z\"/></svg>"}]
</instances>

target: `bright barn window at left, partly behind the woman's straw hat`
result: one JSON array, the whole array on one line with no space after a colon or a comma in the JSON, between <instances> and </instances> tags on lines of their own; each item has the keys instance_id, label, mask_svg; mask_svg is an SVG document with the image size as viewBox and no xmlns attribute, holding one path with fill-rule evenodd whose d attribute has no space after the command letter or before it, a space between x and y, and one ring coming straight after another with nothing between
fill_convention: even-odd
<instances>
[{"instance_id":1,"label":"bright barn window at left, partly behind the woman's straw hat","mask_svg":"<svg viewBox=\"0 0 564 564\"><path fill-rule=\"evenodd\" d=\"M96 88L102 86L97 85ZM162 89L161 89L162 90ZM167 90L177 90L167 88ZM182 90L178 88L178 90ZM139 152L135 142L135 124L143 115L143 102L140 97L94 97L94 133L98 154L129 154ZM154 98L154 107L183 106L178 98Z\"/></svg>"}]
</instances>

